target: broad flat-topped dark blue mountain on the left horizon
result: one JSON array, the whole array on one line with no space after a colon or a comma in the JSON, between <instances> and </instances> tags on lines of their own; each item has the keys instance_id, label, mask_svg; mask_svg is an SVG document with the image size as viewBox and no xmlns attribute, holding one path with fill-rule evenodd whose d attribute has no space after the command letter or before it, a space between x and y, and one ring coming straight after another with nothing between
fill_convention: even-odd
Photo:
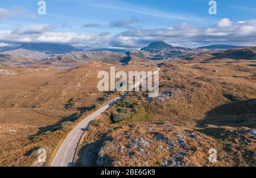
<instances>
[{"instance_id":1,"label":"broad flat-topped dark blue mountain on the left horizon","mask_svg":"<svg viewBox=\"0 0 256 178\"><path fill-rule=\"evenodd\" d=\"M46 54L61 54L82 51L72 45L48 44L48 43L26 43L20 45L17 49L27 49L30 51L44 52Z\"/></svg>"}]
</instances>

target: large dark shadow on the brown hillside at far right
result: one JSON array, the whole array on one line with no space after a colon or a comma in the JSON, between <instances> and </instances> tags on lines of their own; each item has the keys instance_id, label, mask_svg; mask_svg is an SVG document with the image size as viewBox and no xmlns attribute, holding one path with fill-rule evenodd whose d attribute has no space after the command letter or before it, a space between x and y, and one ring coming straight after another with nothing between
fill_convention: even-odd
<instances>
[{"instance_id":1,"label":"large dark shadow on the brown hillside at far right","mask_svg":"<svg viewBox=\"0 0 256 178\"><path fill-rule=\"evenodd\" d=\"M206 117L199 121L201 126L216 125L230 127L256 127L256 99L236 100L232 96L229 98L230 103L220 105L210 110Z\"/></svg>"}]
</instances>

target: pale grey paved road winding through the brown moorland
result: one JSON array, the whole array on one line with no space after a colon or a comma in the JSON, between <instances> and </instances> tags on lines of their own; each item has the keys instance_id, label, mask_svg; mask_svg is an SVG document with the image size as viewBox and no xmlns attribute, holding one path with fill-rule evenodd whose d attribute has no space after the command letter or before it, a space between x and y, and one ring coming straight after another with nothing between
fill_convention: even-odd
<instances>
[{"instance_id":1,"label":"pale grey paved road winding through the brown moorland","mask_svg":"<svg viewBox=\"0 0 256 178\"><path fill-rule=\"evenodd\" d=\"M160 69L158 69L159 71ZM158 72L155 71L154 73ZM153 73L153 74L154 74ZM147 76L148 77L148 76ZM146 80L146 78L142 78L142 80ZM139 83L134 84L134 87L137 86ZM127 92L123 93L120 97L115 98L114 101L106 104L105 106L101 107L94 113L90 114L84 120L82 120L72 131L69 133L67 138L65 138L64 142L61 144L59 151L55 155L55 158L52 162L52 167L72 167L73 166L73 158L75 156L76 148L79 144L82 134L84 133L86 127L89 125L91 121L99 117L105 110L109 107L116 104L119 100L121 100Z\"/></svg>"}]
</instances>

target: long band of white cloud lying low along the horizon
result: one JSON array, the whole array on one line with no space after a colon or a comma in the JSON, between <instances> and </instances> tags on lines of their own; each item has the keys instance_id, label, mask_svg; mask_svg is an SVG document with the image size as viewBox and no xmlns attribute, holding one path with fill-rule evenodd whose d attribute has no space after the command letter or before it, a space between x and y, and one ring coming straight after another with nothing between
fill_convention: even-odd
<instances>
[{"instance_id":1,"label":"long band of white cloud lying low along the horizon","mask_svg":"<svg viewBox=\"0 0 256 178\"><path fill-rule=\"evenodd\" d=\"M222 19L221 22L224 20ZM230 20L229 20L230 21ZM256 20L243 23L231 22L232 25L218 25L203 28L189 23L181 23L171 28L128 30L111 35L109 32L100 34L51 31L47 25L20 28L14 31L0 31L1 43L65 43L85 45L87 47L122 47L139 48L150 42L163 40L172 45L195 47L205 44L236 44L256 45ZM229 23L229 24L230 24Z\"/></svg>"}]
</instances>

